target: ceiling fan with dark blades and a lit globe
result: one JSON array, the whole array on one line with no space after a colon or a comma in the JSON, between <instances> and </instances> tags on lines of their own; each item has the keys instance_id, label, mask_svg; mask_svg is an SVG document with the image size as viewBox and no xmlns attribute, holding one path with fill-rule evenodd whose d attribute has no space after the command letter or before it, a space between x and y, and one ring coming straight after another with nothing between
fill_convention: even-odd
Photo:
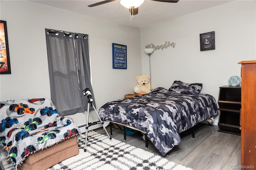
<instances>
[{"instance_id":1,"label":"ceiling fan with dark blades and a lit globe","mask_svg":"<svg viewBox=\"0 0 256 170\"><path fill-rule=\"evenodd\" d=\"M88 5L88 7L94 7L102 4L106 4L108 2L112 2L115 0L104 0L97 2L95 4ZM171 3L177 3L179 0L153 0L158 2L171 2ZM144 2L144 0L120 0L120 4L126 8L129 8L130 14L132 16L138 14L138 7Z\"/></svg>"}]
</instances>

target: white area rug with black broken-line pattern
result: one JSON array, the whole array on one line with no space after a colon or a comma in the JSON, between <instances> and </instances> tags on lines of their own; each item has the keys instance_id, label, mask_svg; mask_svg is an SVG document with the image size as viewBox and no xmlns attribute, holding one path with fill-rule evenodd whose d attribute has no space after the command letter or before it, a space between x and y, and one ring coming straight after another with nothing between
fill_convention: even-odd
<instances>
[{"instance_id":1,"label":"white area rug with black broken-line pattern","mask_svg":"<svg viewBox=\"0 0 256 170\"><path fill-rule=\"evenodd\" d=\"M192 170L94 131L88 132L86 152L85 134L78 136L78 146L78 155L48 170Z\"/></svg>"}]
</instances>

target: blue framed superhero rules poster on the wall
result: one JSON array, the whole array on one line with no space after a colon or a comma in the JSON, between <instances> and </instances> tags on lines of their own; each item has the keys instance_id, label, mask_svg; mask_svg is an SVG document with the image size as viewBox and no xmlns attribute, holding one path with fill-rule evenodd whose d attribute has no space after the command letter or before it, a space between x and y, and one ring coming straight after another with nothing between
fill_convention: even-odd
<instances>
[{"instance_id":1,"label":"blue framed superhero rules poster on the wall","mask_svg":"<svg viewBox=\"0 0 256 170\"><path fill-rule=\"evenodd\" d=\"M113 69L127 69L127 46L112 43Z\"/></svg>"}]
</instances>

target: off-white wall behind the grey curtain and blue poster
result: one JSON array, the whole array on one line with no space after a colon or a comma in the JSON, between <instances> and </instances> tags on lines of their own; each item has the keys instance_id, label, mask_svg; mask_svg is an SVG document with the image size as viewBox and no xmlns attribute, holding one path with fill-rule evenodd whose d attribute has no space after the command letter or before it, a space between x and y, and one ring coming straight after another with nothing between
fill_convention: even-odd
<instances>
[{"instance_id":1,"label":"off-white wall behind the grey curtain and blue poster","mask_svg":"<svg viewBox=\"0 0 256 170\"><path fill-rule=\"evenodd\" d=\"M139 28L20 0L1 0L0 17L7 22L12 71L0 75L1 101L50 98L45 28L89 34L97 110L133 93L135 77L142 72ZM127 45L127 69L112 69L112 43ZM72 117L78 125L86 123L85 113ZM89 121L96 120L93 112Z\"/></svg>"}]
</instances>

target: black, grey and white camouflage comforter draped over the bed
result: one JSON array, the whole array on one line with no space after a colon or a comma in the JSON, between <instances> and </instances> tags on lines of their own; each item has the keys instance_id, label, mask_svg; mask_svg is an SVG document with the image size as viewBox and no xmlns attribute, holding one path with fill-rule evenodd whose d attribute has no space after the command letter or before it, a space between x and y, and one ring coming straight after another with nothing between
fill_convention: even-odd
<instances>
[{"instance_id":1,"label":"black, grey and white camouflage comforter draped over the bed","mask_svg":"<svg viewBox=\"0 0 256 170\"><path fill-rule=\"evenodd\" d=\"M147 132L163 156L181 142L180 132L217 114L216 101L211 95L184 95L162 87L106 103L99 110L102 121L111 120Z\"/></svg>"}]
</instances>

